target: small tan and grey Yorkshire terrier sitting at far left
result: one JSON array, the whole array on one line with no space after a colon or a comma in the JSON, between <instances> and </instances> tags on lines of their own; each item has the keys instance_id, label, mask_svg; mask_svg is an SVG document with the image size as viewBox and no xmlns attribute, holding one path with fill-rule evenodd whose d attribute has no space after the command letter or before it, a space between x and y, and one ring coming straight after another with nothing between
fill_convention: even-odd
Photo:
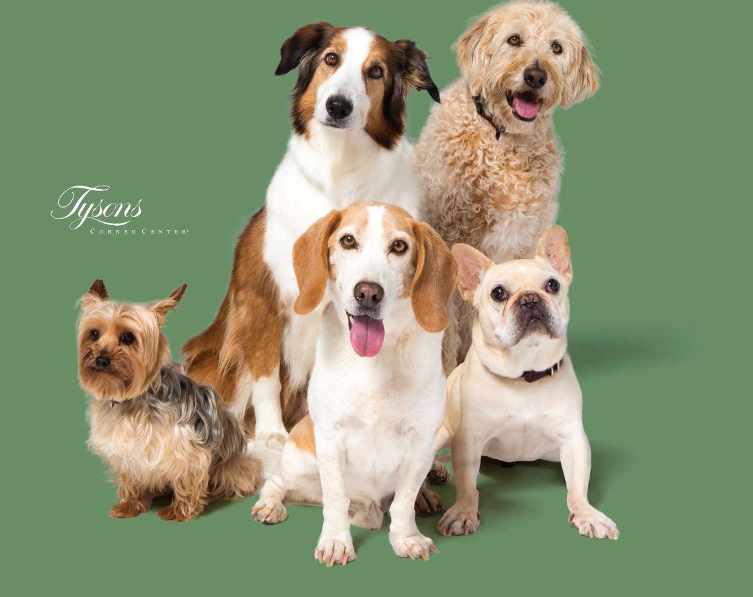
<instances>
[{"instance_id":1,"label":"small tan and grey Yorkshire terrier sitting at far left","mask_svg":"<svg viewBox=\"0 0 753 597\"><path fill-rule=\"evenodd\" d=\"M169 362L160 330L186 285L151 305L108 299L102 280L81 297L78 375L93 399L89 446L110 466L118 502L110 514L148 511L155 495L172 492L163 520L197 516L212 499L255 492L261 462L221 396Z\"/></svg>"}]
</instances>

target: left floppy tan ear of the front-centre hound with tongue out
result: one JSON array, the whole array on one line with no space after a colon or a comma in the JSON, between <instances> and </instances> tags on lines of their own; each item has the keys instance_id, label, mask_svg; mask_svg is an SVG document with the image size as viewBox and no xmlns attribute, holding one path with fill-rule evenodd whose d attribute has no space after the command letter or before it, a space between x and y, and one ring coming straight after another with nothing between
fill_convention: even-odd
<instances>
[{"instance_id":1,"label":"left floppy tan ear of the front-centre hound with tongue out","mask_svg":"<svg viewBox=\"0 0 753 597\"><path fill-rule=\"evenodd\" d=\"M322 302L329 275L327 244L341 218L340 211L332 210L316 220L293 245L293 269L299 289L293 311L299 315L311 313Z\"/></svg>"}]
</instances>

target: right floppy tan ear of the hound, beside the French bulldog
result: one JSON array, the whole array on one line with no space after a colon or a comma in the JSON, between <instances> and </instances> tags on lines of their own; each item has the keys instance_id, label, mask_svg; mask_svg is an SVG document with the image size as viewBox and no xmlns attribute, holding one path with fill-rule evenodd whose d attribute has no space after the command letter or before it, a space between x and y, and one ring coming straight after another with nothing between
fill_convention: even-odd
<instances>
[{"instance_id":1,"label":"right floppy tan ear of the hound, beside the French bulldog","mask_svg":"<svg viewBox=\"0 0 753 597\"><path fill-rule=\"evenodd\" d=\"M423 222L413 223L416 237L416 274L410 287L410 305L416 321L427 332L447 327L447 303L453 295L458 268L440 235Z\"/></svg>"}]
</instances>

